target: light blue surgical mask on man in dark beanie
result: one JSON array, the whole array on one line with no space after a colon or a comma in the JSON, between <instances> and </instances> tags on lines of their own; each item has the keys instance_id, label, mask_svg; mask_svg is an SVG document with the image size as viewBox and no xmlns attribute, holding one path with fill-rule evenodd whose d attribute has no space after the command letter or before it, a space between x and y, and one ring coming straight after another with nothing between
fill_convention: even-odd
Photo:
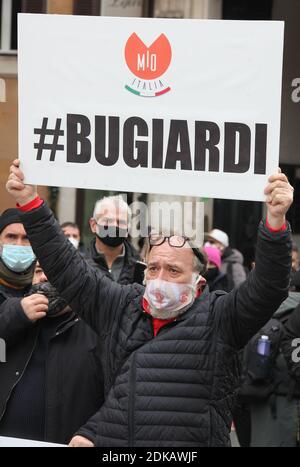
<instances>
[{"instance_id":1,"label":"light blue surgical mask on man in dark beanie","mask_svg":"<svg viewBox=\"0 0 300 467\"><path fill-rule=\"evenodd\" d=\"M24 272L35 260L31 246L3 245L1 258L5 266L14 272Z\"/></svg>"}]
</instances>

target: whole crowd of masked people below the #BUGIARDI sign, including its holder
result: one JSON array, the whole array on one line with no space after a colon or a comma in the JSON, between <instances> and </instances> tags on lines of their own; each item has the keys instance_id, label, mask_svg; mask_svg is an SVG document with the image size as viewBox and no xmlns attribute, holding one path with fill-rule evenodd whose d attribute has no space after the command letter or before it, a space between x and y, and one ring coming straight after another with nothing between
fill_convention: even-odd
<instances>
[{"instance_id":1,"label":"whole crowd of masked people below the #BUGIARDI sign, including its holder","mask_svg":"<svg viewBox=\"0 0 300 467\"><path fill-rule=\"evenodd\" d=\"M234 426L241 446L298 445L299 251L284 174L266 187L251 271L219 229L203 248L150 234L141 258L120 196L96 203L83 245L23 180L14 161L17 207L0 216L0 436L229 446Z\"/></svg>"}]
</instances>

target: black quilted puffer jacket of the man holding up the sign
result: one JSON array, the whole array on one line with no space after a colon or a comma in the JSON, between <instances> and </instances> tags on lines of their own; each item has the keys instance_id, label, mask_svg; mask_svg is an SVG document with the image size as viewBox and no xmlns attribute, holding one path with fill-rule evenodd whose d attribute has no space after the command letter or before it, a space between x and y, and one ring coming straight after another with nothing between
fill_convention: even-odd
<instances>
[{"instance_id":1,"label":"black quilted puffer jacket of the man holding up the sign","mask_svg":"<svg viewBox=\"0 0 300 467\"><path fill-rule=\"evenodd\" d=\"M144 288L120 286L69 245L46 205L21 214L49 280L99 334L106 400L80 433L97 446L228 446L237 351L287 297L290 231L259 227L256 268L231 293L204 292L153 337Z\"/></svg>"}]
</instances>

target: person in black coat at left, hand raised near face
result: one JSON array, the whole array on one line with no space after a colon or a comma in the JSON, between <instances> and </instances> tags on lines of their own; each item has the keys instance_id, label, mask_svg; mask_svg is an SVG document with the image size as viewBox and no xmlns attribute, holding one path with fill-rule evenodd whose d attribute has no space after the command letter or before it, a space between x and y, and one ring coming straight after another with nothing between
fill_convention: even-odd
<instances>
[{"instance_id":1,"label":"person in black coat at left, hand raised near face","mask_svg":"<svg viewBox=\"0 0 300 467\"><path fill-rule=\"evenodd\" d=\"M0 310L0 435L66 444L103 402L99 339L39 264L33 284L35 293Z\"/></svg>"}]
</instances>

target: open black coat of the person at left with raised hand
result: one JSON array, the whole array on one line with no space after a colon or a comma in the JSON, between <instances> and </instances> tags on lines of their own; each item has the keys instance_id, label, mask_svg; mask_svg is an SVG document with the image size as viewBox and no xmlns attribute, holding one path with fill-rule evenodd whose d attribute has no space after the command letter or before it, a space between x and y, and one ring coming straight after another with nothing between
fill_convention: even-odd
<instances>
[{"instance_id":1,"label":"open black coat of the person at left with raised hand","mask_svg":"<svg viewBox=\"0 0 300 467\"><path fill-rule=\"evenodd\" d=\"M6 363L0 363L0 427L43 326L43 320L37 324L29 321L20 302L19 298L8 298L0 309L0 338L7 346ZM45 441L68 443L103 403L98 346L98 336L75 313L68 313L54 329L46 359ZM26 438L26 433L22 437Z\"/></svg>"}]
</instances>

